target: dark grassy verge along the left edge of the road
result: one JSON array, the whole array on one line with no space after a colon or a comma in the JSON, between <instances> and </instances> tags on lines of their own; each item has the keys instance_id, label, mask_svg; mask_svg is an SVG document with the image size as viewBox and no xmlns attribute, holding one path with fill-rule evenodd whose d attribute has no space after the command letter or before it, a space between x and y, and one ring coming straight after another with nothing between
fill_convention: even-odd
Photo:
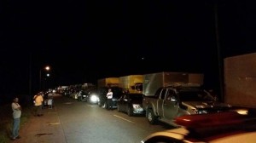
<instances>
[{"instance_id":1,"label":"dark grassy verge along the left edge of the road","mask_svg":"<svg viewBox=\"0 0 256 143\"><path fill-rule=\"evenodd\" d=\"M0 143L10 143L10 137L13 127L13 111L11 105L0 106ZM29 117L32 116L32 106L22 107L20 117L20 129L26 124Z\"/></svg>"}]
</instances>

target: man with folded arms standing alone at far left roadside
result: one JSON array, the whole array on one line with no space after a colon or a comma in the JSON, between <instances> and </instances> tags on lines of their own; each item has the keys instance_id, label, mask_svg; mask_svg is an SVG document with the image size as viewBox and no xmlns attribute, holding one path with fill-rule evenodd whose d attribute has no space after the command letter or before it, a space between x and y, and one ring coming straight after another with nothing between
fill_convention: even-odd
<instances>
[{"instance_id":1,"label":"man with folded arms standing alone at far left roadside","mask_svg":"<svg viewBox=\"0 0 256 143\"><path fill-rule=\"evenodd\" d=\"M12 133L12 140L20 139L19 130L20 130L20 116L21 116L21 106L19 105L19 99L15 97L12 103L12 110L13 110L13 117L14 117L14 124L13 124L13 133Z\"/></svg>"}]
</instances>

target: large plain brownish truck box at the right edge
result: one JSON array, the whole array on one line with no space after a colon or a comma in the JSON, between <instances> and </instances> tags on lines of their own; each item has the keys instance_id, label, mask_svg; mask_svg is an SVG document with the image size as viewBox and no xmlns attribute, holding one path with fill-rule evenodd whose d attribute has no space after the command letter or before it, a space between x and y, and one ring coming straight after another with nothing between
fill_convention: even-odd
<instances>
[{"instance_id":1,"label":"large plain brownish truck box at the right edge","mask_svg":"<svg viewBox=\"0 0 256 143\"><path fill-rule=\"evenodd\" d=\"M224 59L224 102L256 107L256 53Z\"/></svg>"}]
</instances>

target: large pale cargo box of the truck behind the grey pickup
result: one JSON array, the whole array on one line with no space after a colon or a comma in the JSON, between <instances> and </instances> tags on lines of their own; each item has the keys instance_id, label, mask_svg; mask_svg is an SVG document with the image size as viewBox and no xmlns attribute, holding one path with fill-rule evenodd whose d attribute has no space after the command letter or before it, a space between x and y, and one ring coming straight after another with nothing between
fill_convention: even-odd
<instances>
[{"instance_id":1,"label":"large pale cargo box of the truck behind the grey pickup","mask_svg":"<svg viewBox=\"0 0 256 143\"><path fill-rule=\"evenodd\" d=\"M160 87L166 87L172 83L195 83L203 85L204 74L187 72L156 72L143 75L143 94L154 96Z\"/></svg>"}]
</instances>

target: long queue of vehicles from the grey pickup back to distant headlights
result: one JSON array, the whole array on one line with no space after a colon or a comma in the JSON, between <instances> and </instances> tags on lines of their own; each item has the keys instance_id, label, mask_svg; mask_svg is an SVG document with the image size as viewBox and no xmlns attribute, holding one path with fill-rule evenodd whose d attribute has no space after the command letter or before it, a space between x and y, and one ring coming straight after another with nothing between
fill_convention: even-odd
<instances>
[{"instance_id":1,"label":"long queue of vehicles from the grey pickup back to distant headlights","mask_svg":"<svg viewBox=\"0 0 256 143\"><path fill-rule=\"evenodd\" d=\"M108 77L99 79L97 86L71 89L76 90L71 97L106 108L106 94L112 89L113 108L118 112L129 116L144 114L151 124L160 121L178 126L174 123L176 117L224 112L232 108L203 89L203 81L201 73L184 72ZM64 90L62 94L65 93Z\"/></svg>"}]
</instances>

